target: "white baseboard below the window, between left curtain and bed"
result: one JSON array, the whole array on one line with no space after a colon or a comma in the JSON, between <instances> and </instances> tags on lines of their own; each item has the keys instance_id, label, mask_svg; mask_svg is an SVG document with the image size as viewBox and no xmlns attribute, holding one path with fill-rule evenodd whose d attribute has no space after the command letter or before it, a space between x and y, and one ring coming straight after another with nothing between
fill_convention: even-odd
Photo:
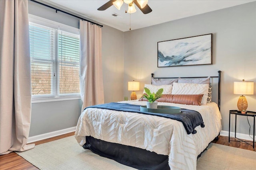
<instances>
[{"instance_id":1,"label":"white baseboard below the window, between left curtain and bed","mask_svg":"<svg viewBox=\"0 0 256 170\"><path fill-rule=\"evenodd\" d=\"M51 137L64 135L66 133L70 133L70 132L74 132L74 131L76 131L76 127L70 127L70 128L67 128L67 129L59 130L59 131L54 131L54 132L49 132L49 133L44 133L44 134L41 134L41 135L28 137L28 142L27 143L41 141L43 139L48 139L48 138L51 138Z\"/></svg>"}]
</instances>

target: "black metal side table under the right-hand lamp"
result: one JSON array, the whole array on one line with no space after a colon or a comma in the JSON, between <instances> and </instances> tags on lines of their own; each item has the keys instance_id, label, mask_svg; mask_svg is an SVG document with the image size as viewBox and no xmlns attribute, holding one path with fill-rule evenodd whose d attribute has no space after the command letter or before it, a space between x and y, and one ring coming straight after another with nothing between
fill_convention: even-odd
<instances>
[{"instance_id":1,"label":"black metal side table under the right-hand lamp","mask_svg":"<svg viewBox=\"0 0 256 170\"><path fill-rule=\"evenodd\" d=\"M250 117L253 117L254 118L254 121L253 121L253 141L252 141L252 145L246 141L243 141L239 138L236 137L236 122L235 122L235 138L236 139L239 139L240 141L244 142L244 143L247 143L248 145L251 145L254 149L254 136L255 136L255 117L256 117L256 112L254 111L246 111L245 114L242 114L240 112L238 112L238 110L230 110L229 111L229 130L228 130L228 143L230 143L230 115L241 115L241 116L250 116ZM249 134L250 135L250 134ZM235 142L239 142L239 141L235 141Z\"/></svg>"}]
</instances>

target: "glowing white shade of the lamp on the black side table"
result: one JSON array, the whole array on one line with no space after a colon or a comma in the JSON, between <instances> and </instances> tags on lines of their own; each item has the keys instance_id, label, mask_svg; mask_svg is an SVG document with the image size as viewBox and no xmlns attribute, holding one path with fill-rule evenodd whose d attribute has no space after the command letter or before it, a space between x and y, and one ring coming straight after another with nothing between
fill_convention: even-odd
<instances>
[{"instance_id":1,"label":"glowing white shade of the lamp on the black side table","mask_svg":"<svg viewBox=\"0 0 256 170\"><path fill-rule=\"evenodd\" d=\"M234 82L234 94L253 95L254 82Z\"/></svg>"}]
</instances>

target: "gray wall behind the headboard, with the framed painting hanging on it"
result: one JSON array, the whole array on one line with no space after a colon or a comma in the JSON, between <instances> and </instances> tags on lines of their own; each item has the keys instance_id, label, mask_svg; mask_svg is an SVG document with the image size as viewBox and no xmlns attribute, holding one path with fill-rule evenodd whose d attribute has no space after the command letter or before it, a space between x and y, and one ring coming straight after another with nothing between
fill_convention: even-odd
<instances>
[{"instance_id":1,"label":"gray wall behind the headboard, with the framed painting hanging on it","mask_svg":"<svg viewBox=\"0 0 256 170\"><path fill-rule=\"evenodd\" d=\"M158 41L208 33L213 33L212 65L157 67ZM256 82L256 2L127 31L124 39L125 96L130 96L127 82L137 80L141 82L141 90L136 92L140 97L144 84L150 83L150 73L169 77L213 76L222 70L222 130L228 131L229 110L237 109L239 98L239 95L233 94L233 82L242 79ZM247 110L256 111L256 83L254 95L247 95L246 98ZM237 132L248 134L246 117L238 117L237 121ZM253 128L251 117L249 121Z\"/></svg>"}]
</instances>

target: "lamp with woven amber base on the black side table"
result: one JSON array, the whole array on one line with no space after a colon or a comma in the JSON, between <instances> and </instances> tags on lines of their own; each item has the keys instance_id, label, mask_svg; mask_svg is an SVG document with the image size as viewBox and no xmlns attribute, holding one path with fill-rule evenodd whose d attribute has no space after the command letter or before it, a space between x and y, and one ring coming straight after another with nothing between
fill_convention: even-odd
<instances>
[{"instance_id":1,"label":"lamp with woven amber base on the black side table","mask_svg":"<svg viewBox=\"0 0 256 170\"><path fill-rule=\"evenodd\" d=\"M239 111L246 110L248 107L247 100L244 95L253 95L254 82L234 82L234 94L240 94L237 102Z\"/></svg>"}]
</instances>

